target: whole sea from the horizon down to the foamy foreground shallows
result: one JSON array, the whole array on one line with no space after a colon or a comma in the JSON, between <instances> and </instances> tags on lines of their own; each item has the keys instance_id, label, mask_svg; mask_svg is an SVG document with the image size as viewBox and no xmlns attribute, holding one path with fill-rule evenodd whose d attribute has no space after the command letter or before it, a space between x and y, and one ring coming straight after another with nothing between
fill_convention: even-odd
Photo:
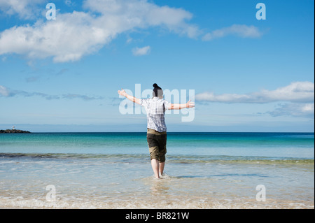
<instances>
[{"instance_id":1,"label":"whole sea from the horizon down to the foamy foreground shallows","mask_svg":"<svg viewBox=\"0 0 315 223\"><path fill-rule=\"evenodd\" d=\"M314 133L0 134L0 208L313 209Z\"/></svg>"}]
</instances>

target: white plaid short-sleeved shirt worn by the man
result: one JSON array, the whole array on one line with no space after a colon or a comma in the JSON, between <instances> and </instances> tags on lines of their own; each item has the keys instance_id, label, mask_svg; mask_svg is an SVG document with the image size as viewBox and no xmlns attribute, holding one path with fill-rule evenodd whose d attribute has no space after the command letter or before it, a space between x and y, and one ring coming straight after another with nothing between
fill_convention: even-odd
<instances>
[{"instance_id":1,"label":"white plaid short-sleeved shirt worn by the man","mask_svg":"<svg viewBox=\"0 0 315 223\"><path fill-rule=\"evenodd\" d=\"M159 132L167 131L165 124L165 109L169 109L171 103L158 97L152 99L141 99L140 105L146 108L146 119L148 120L148 129L154 129Z\"/></svg>"}]
</instances>

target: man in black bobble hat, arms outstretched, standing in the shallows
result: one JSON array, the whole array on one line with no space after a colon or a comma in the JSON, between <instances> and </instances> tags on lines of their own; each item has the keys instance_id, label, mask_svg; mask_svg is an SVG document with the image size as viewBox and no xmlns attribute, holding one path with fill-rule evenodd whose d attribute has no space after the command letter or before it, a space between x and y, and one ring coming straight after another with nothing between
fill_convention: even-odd
<instances>
[{"instance_id":1,"label":"man in black bobble hat, arms outstretched, standing in the shallows","mask_svg":"<svg viewBox=\"0 0 315 223\"><path fill-rule=\"evenodd\" d=\"M118 94L125 96L130 101L138 103L146 108L147 117L147 141L151 158L151 166L155 178L162 176L165 167L165 154L167 152L167 127L165 124L165 110L193 108L194 103L169 103L163 99L163 90L157 84L153 85L153 97L151 99L137 99L121 89Z\"/></svg>"}]
</instances>

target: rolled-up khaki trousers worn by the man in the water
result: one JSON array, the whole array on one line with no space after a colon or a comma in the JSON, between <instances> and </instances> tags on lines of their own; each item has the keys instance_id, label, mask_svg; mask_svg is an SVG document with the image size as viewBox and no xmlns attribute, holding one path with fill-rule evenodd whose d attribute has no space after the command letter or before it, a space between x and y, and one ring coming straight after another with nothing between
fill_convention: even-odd
<instances>
[{"instance_id":1,"label":"rolled-up khaki trousers worn by the man in the water","mask_svg":"<svg viewBox=\"0 0 315 223\"><path fill-rule=\"evenodd\" d=\"M167 133L158 132L153 129L148 129L146 134L146 140L148 141L148 147L150 152L151 159L158 159L160 163L165 162L165 154L167 153L166 150L166 143L167 143Z\"/></svg>"}]
</instances>

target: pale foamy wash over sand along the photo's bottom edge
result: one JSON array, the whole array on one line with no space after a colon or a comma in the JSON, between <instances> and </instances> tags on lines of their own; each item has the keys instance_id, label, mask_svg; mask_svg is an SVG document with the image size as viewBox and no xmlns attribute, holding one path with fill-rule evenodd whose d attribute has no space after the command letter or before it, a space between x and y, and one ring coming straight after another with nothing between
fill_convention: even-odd
<instances>
[{"instance_id":1,"label":"pale foamy wash over sand along the photo's bottom edge","mask_svg":"<svg viewBox=\"0 0 315 223\"><path fill-rule=\"evenodd\" d=\"M108 199L107 199L108 200ZM152 196L134 199L125 198L109 201L99 199L57 199L54 202L43 199L1 198L0 208L41 208L41 209L314 209L314 201L271 200L257 202L253 199L214 199L204 196L168 196L160 201Z\"/></svg>"}]
</instances>

